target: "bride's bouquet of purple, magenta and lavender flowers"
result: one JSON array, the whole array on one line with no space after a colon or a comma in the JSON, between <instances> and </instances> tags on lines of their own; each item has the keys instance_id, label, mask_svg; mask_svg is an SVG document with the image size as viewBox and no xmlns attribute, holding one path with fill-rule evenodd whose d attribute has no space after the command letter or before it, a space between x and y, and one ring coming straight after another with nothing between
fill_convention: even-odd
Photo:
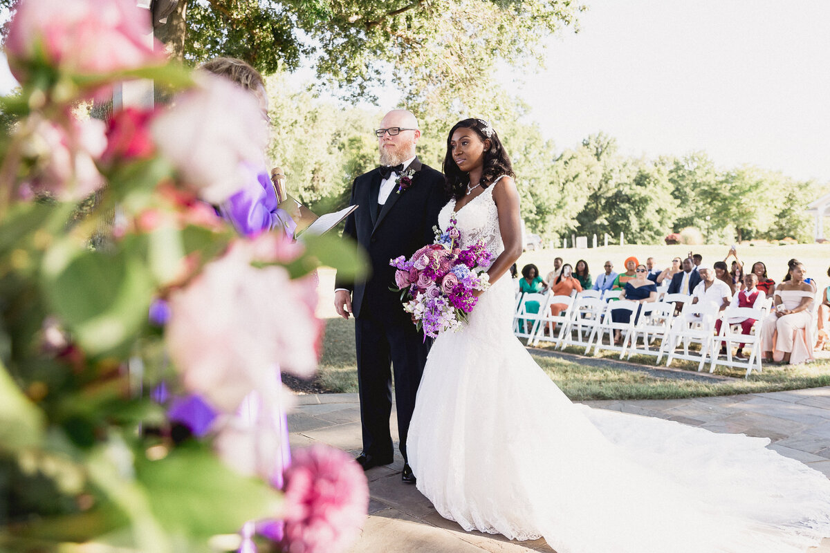
<instances>
[{"instance_id":1,"label":"bride's bouquet of purple, magenta and lavender flowers","mask_svg":"<svg viewBox=\"0 0 830 553\"><path fill-rule=\"evenodd\" d=\"M479 240L465 250L458 247L456 219L445 231L435 227L435 241L425 245L409 260L401 255L390 260L395 285L402 290L403 309L412 313L418 329L428 337L457 330L478 298L473 290L490 288L486 269L492 255ZM408 299L407 299L408 298Z\"/></svg>"}]
</instances>

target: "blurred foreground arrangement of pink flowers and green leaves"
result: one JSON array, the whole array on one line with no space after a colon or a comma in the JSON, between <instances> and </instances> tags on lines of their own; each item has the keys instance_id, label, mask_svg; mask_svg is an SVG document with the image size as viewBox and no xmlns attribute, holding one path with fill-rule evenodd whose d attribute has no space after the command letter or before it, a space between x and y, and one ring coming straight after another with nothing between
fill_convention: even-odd
<instances>
[{"instance_id":1,"label":"blurred foreground arrangement of pink flowers and green leaves","mask_svg":"<svg viewBox=\"0 0 830 553\"><path fill-rule=\"evenodd\" d=\"M217 217L263 163L259 108L148 32L112 0L22 0L9 30L0 550L343 551L366 478L335 449L291 457L280 371L315 371L315 268L362 268ZM139 77L173 107L90 119Z\"/></svg>"}]
</instances>

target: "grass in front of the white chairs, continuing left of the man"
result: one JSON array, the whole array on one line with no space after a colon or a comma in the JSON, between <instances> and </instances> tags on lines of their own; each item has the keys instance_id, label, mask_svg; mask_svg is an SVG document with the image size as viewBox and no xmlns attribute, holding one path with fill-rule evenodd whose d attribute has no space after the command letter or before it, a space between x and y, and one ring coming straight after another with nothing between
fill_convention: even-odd
<instances>
[{"instance_id":1,"label":"grass in front of the white chairs, continuing left of the man","mask_svg":"<svg viewBox=\"0 0 830 553\"><path fill-rule=\"evenodd\" d=\"M358 381L354 357L354 319L328 318L325 323L318 381L325 390L331 392L356 392ZM581 353L583 350L567 348L565 351ZM580 362L579 357L533 357L551 380L575 401L662 400L830 386L830 360L799 366L764 366L761 374L753 372L749 379L743 378L744 371L718 367L719 374L734 378L708 383L662 378L616 367L587 366ZM617 356L613 352L600 352L598 357L611 360ZM654 366L654 357L635 356L632 361ZM672 366L689 371L696 371L697 368L696 363L691 361L674 361Z\"/></svg>"}]
</instances>

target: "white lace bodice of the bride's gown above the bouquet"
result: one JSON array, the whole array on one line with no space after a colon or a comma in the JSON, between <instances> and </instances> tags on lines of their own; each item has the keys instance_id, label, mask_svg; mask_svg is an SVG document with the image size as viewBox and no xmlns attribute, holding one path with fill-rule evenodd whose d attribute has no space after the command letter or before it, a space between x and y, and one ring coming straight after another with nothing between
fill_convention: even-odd
<instances>
[{"instance_id":1,"label":"white lace bodice of the bride's gown above the bouquet","mask_svg":"<svg viewBox=\"0 0 830 553\"><path fill-rule=\"evenodd\" d=\"M456 213L456 226L461 232L461 248L466 248L477 240L481 240L487 251L493 255L493 259L496 259L505 250L499 229L499 213L496 210L496 201L493 200L493 189L496 187L496 182L499 182L502 177L504 175L497 178L489 187L484 189L484 192L474 197ZM447 226L450 225L450 217L455 209L455 198L447 202L447 205L442 208L438 214L438 226L441 227L441 230L447 230Z\"/></svg>"}]
</instances>

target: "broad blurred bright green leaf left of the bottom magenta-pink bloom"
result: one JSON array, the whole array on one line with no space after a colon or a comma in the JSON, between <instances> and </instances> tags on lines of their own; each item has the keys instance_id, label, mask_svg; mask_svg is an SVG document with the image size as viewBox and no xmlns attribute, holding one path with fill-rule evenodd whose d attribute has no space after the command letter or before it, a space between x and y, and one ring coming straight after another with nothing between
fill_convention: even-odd
<instances>
[{"instance_id":1,"label":"broad blurred bright green leaf left of the bottom magenta-pink bloom","mask_svg":"<svg viewBox=\"0 0 830 553\"><path fill-rule=\"evenodd\" d=\"M155 517L171 533L228 534L245 521L280 512L280 492L235 473L203 444L186 444L157 461L138 458L136 475Z\"/></svg>"}]
</instances>

